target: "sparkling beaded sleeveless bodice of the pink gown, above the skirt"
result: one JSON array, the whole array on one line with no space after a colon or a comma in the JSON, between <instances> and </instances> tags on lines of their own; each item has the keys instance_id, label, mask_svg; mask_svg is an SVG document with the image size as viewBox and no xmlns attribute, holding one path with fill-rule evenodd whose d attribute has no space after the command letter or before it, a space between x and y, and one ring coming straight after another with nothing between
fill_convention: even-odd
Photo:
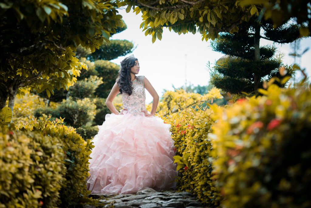
<instances>
[{"instance_id":1,"label":"sparkling beaded sleeveless bodice of the pink gown, above the skirt","mask_svg":"<svg viewBox=\"0 0 311 208\"><path fill-rule=\"evenodd\" d=\"M122 102L124 109L128 113L137 115L144 115L142 110L146 111L146 93L144 85L145 76L137 76L136 80L132 82L133 91L129 96L128 93L122 93Z\"/></svg>"}]
</instances>

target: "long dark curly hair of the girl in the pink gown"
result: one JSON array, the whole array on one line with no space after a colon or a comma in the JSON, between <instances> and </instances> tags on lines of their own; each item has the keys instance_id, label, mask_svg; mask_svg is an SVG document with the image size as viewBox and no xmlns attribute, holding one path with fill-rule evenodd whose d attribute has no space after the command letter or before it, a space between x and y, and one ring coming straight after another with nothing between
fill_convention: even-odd
<instances>
[{"instance_id":1,"label":"long dark curly hair of the girl in the pink gown","mask_svg":"<svg viewBox=\"0 0 311 208\"><path fill-rule=\"evenodd\" d=\"M123 92L132 94L132 81L131 81L131 68L135 65L135 61L138 60L133 55L126 57L123 61L120 62L120 70L118 78L116 79L119 86L120 94Z\"/></svg>"}]
</instances>

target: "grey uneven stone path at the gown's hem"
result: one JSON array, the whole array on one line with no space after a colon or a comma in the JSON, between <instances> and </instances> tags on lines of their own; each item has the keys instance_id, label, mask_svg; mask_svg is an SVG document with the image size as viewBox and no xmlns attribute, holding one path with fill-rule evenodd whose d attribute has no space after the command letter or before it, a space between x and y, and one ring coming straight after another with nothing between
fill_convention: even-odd
<instances>
[{"instance_id":1,"label":"grey uneven stone path at the gown's hem","mask_svg":"<svg viewBox=\"0 0 311 208\"><path fill-rule=\"evenodd\" d=\"M114 208L158 208L158 207L180 207L180 208L202 208L190 192L164 191L157 192L152 188L138 191L136 194L91 194L90 197L99 199L102 206ZM94 208L86 205L84 208Z\"/></svg>"}]
</instances>

